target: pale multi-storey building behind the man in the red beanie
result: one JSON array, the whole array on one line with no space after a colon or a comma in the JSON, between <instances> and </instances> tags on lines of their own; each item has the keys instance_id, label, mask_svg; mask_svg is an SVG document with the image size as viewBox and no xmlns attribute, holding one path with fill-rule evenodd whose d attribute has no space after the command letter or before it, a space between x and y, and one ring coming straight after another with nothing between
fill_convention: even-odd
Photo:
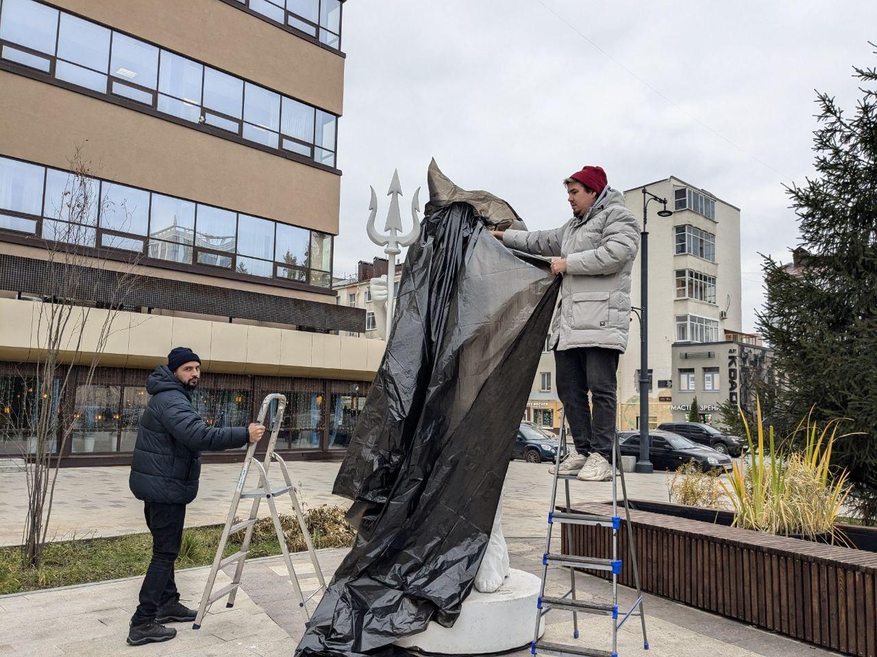
<instances>
[{"instance_id":1,"label":"pale multi-storey building behind the man in the red beanie","mask_svg":"<svg viewBox=\"0 0 877 657\"><path fill-rule=\"evenodd\" d=\"M647 223L649 423L657 426L680 414L674 405L684 406L674 397L674 344L741 339L740 209L678 178L657 180L645 188L667 198L667 207L674 210L662 218L657 215L660 205L652 203ZM624 192L624 205L637 217L643 215L642 190ZM640 262L637 258L631 272L634 307L640 300ZM639 338L639 321L631 314L627 350L618 364L619 429L639 426ZM557 431L560 403L554 378L553 355L543 354L526 417ZM548 382L553 390L546 390Z\"/></svg>"}]
</instances>

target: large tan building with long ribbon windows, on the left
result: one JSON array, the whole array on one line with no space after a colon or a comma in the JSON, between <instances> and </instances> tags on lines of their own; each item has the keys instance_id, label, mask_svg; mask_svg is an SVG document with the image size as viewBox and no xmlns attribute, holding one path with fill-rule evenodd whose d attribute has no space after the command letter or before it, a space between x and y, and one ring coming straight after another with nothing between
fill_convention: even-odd
<instances>
[{"instance_id":1,"label":"large tan building with long ribbon windows, on the left","mask_svg":"<svg viewBox=\"0 0 877 657\"><path fill-rule=\"evenodd\" d=\"M125 463L149 368L203 358L214 424L289 398L280 447L343 449L382 343L336 304L344 62L341 0L0 0L0 396L15 434L39 360L37 281L75 234L94 284L134 263L136 293L90 385L58 399L65 463ZM65 210L70 159L100 199ZM88 341L86 341L88 343ZM89 353L80 355L89 361ZM75 376L78 376L75 372Z\"/></svg>"}]
</instances>

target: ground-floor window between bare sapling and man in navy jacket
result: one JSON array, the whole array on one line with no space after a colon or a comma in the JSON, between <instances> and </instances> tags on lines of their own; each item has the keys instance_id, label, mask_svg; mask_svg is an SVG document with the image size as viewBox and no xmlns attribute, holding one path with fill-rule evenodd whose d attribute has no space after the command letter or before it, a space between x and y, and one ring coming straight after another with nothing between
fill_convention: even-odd
<instances>
[{"instance_id":1,"label":"ground-floor window between bare sapling and man in navy jacket","mask_svg":"<svg viewBox=\"0 0 877 657\"><path fill-rule=\"evenodd\" d=\"M71 451L74 454L118 451L119 385L80 385L76 388Z\"/></svg>"}]
</instances>

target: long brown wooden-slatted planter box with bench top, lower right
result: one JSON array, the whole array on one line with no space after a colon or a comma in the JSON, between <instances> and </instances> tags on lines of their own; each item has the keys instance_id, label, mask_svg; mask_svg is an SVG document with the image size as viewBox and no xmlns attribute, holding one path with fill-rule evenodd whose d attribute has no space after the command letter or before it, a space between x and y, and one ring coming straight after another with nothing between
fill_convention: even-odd
<instances>
[{"instance_id":1,"label":"long brown wooden-slatted planter box with bench top, lower right","mask_svg":"<svg viewBox=\"0 0 877 657\"><path fill-rule=\"evenodd\" d=\"M611 515L601 503L573 511ZM877 553L665 513L631 510L631 521L643 590L842 653L877 657ZM570 529L572 545L561 532L564 552L611 558L610 532ZM633 586L627 545L623 522L619 582Z\"/></svg>"}]
</instances>

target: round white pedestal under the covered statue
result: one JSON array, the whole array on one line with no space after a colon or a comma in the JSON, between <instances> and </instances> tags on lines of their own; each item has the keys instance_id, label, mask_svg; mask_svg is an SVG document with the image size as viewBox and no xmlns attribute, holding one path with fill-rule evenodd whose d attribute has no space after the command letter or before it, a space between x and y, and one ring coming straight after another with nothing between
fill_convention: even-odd
<instances>
[{"instance_id":1,"label":"round white pedestal under the covered statue","mask_svg":"<svg viewBox=\"0 0 877 657\"><path fill-rule=\"evenodd\" d=\"M397 646L438 654L499 653L527 646L533 640L539 597L539 578L523 570L510 576L493 593L473 589L453 627L430 623L424 632L396 641ZM539 636L545 632L540 621Z\"/></svg>"}]
</instances>

